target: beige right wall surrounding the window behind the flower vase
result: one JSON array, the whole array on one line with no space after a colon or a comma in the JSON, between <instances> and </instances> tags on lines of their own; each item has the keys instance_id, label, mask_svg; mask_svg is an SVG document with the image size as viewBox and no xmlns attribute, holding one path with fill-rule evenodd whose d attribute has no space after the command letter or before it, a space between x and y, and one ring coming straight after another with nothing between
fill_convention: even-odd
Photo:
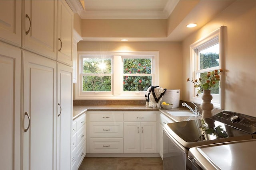
<instances>
[{"instance_id":1,"label":"beige right wall surrounding the window behind the flower vase","mask_svg":"<svg viewBox=\"0 0 256 170\"><path fill-rule=\"evenodd\" d=\"M225 25L224 109L256 116L256 1L236 1L182 42L182 100L189 100L189 46Z\"/></svg>"}]
</instances>

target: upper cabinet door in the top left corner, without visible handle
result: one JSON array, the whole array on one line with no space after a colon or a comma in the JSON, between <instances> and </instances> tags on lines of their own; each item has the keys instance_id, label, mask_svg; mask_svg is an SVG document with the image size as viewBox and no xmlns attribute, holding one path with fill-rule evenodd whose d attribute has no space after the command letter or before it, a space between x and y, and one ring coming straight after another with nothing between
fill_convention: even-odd
<instances>
[{"instance_id":1,"label":"upper cabinet door in the top left corner, without visible handle","mask_svg":"<svg viewBox=\"0 0 256 170\"><path fill-rule=\"evenodd\" d=\"M0 40L20 47L21 0L0 1Z\"/></svg>"}]
</instances>

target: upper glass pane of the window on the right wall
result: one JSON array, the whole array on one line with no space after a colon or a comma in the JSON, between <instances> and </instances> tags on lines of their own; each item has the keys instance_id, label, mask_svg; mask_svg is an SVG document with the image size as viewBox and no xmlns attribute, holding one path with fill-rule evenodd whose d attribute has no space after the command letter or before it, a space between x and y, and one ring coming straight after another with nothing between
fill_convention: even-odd
<instances>
[{"instance_id":1,"label":"upper glass pane of the window on the right wall","mask_svg":"<svg viewBox=\"0 0 256 170\"><path fill-rule=\"evenodd\" d=\"M199 51L200 69L219 66L219 44L213 45L207 49Z\"/></svg>"}]
</instances>

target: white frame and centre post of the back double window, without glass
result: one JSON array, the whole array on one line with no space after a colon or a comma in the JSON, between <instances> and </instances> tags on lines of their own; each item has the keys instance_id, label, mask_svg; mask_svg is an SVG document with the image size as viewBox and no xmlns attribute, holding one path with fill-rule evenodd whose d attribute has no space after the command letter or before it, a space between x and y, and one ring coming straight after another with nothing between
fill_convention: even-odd
<instances>
[{"instance_id":1,"label":"white frame and centre post of the back double window, without glass","mask_svg":"<svg viewBox=\"0 0 256 170\"><path fill-rule=\"evenodd\" d=\"M82 92L82 58L86 56L112 57L112 86L111 92ZM148 58L152 59L152 86L159 86L159 51L78 51L78 80L74 85L75 100L144 100L145 92L123 91L123 59ZM118 63L118 64L116 64ZM130 74L132 76L133 74Z\"/></svg>"}]
</instances>

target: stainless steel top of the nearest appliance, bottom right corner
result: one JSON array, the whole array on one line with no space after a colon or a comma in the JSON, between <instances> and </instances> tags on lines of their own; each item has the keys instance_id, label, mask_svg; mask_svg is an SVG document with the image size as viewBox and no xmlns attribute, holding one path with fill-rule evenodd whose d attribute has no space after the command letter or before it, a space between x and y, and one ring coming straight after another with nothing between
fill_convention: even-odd
<instances>
[{"instance_id":1,"label":"stainless steel top of the nearest appliance, bottom right corner","mask_svg":"<svg viewBox=\"0 0 256 170\"><path fill-rule=\"evenodd\" d=\"M255 170L256 140L190 148L188 157L205 170Z\"/></svg>"}]
</instances>

